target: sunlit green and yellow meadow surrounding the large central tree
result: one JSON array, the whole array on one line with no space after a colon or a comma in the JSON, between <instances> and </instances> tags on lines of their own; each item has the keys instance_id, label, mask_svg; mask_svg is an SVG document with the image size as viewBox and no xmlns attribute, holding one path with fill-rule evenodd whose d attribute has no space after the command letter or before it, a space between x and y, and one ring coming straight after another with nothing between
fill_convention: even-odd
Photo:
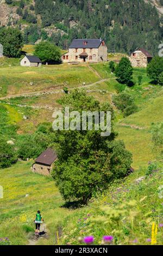
<instances>
[{"instance_id":1,"label":"sunlit green and yellow meadow surrounding the large central tree","mask_svg":"<svg viewBox=\"0 0 163 256\"><path fill-rule=\"evenodd\" d=\"M27 50L32 51L32 47ZM111 58L114 59L113 56ZM137 83L139 75L142 76L141 85ZM150 243L147 239L151 239L152 223L163 223L162 199L158 196L159 186L162 185L162 163L157 162L156 171L146 175L148 162L156 162L149 128L152 123L162 121L163 89L151 83L146 69L134 69L133 80L134 87L126 90L134 96L138 111L123 118L115 106L114 109L118 139L122 139L133 154L135 172L111 184L108 191L102 196L97 195L89 205L74 210L66 208L51 178L32 173L30 167L34 160L17 162L10 168L2 169L0 185L4 188L4 198L0 199L0 238L9 237L13 245L28 244L34 233L33 218L39 209L48 231L46 239L37 241L41 245L78 244L78 237L86 235L95 236L96 244L100 244L102 236L108 234L115 237L115 244ZM19 66L19 60L1 59L0 97L51 89L58 90L58 93L1 99L0 135L8 140L16 139L18 134L33 132L42 122L52 122L53 111L30 106L58 108L58 99L64 95L62 88L83 87L84 82L87 94L95 96L100 102L112 102L112 95L117 93L118 82L108 69L108 63L24 68ZM28 107L18 106L20 104ZM28 119L24 120L24 115ZM137 183L136 179L141 176L145 179ZM123 216L121 209L128 209L128 205L122 206L122 203L130 201L130 213ZM109 219L107 212L114 212L115 209L120 210L122 220L105 223L104 217ZM159 227L158 245L162 242L162 234L163 230Z\"/></svg>"}]
</instances>

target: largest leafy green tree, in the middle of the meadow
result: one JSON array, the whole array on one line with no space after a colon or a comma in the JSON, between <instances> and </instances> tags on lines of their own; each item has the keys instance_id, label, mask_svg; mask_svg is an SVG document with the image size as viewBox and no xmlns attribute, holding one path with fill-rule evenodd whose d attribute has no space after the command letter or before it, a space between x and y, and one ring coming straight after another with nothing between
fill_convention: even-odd
<instances>
[{"instance_id":1,"label":"largest leafy green tree, in the middle of the meadow","mask_svg":"<svg viewBox=\"0 0 163 256\"><path fill-rule=\"evenodd\" d=\"M103 191L109 183L127 175L131 154L122 141L115 141L114 112L108 103L100 105L94 97L78 90L62 97L61 105L71 111L111 111L111 134L101 136L101 130L57 131L55 147L58 161L55 162L53 178L65 200L82 200L93 193ZM63 108L64 112L64 108Z\"/></svg>"}]
</instances>

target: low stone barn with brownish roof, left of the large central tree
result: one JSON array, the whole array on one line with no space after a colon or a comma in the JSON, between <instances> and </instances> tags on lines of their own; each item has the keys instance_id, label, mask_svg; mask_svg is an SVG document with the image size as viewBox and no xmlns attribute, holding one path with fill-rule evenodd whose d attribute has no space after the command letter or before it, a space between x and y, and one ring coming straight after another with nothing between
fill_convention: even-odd
<instances>
[{"instance_id":1,"label":"low stone barn with brownish roof, left of the large central tree","mask_svg":"<svg viewBox=\"0 0 163 256\"><path fill-rule=\"evenodd\" d=\"M56 152L53 149L48 148L39 157L37 157L32 166L32 171L34 173L49 175L53 169L55 160L57 160Z\"/></svg>"}]
</instances>

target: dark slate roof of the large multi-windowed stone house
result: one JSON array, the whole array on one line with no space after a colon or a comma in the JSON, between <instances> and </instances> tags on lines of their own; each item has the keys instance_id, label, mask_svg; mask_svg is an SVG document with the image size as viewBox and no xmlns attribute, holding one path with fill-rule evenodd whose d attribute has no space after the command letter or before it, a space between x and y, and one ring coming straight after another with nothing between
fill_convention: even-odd
<instances>
[{"instance_id":1,"label":"dark slate roof of the large multi-windowed stone house","mask_svg":"<svg viewBox=\"0 0 163 256\"><path fill-rule=\"evenodd\" d=\"M69 48L98 48L102 41L103 39L73 39ZM84 45L84 42L87 44Z\"/></svg>"}]
</instances>

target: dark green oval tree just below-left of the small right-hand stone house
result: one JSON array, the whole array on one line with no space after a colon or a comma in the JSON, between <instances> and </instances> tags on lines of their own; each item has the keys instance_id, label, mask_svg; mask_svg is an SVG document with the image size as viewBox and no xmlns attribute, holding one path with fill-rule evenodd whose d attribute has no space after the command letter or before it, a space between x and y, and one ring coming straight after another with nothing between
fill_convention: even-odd
<instances>
[{"instance_id":1,"label":"dark green oval tree just below-left of the small right-hand stone house","mask_svg":"<svg viewBox=\"0 0 163 256\"><path fill-rule=\"evenodd\" d=\"M120 63L117 65L115 74L121 83L129 84L133 79L133 68L130 60L123 57Z\"/></svg>"}]
</instances>

